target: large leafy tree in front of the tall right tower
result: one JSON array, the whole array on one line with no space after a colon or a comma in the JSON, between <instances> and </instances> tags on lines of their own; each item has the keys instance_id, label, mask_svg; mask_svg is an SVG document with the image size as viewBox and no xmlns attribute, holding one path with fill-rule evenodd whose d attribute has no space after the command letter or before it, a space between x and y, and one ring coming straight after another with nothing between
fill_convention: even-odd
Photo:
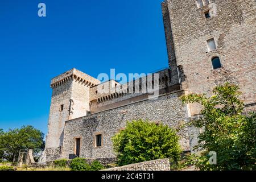
<instances>
[{"instance_id":1,"label":"large leafy tree in front of the tall right tower","mask_svg":"<svg viewBox=\"0 0 256 182\"><path fill-rule=\"evenodd\" d=\"M181 97L188 104L203 105L203 117L190 125L202 128L199 134L201 155L194 155L193 163L201 170L255 170L256 115L243 113L238 86L226 83L217 86L214 95L189 94ZM210 151L217 153L217 164L210 165Z\"/></svg>"}]
</instances>

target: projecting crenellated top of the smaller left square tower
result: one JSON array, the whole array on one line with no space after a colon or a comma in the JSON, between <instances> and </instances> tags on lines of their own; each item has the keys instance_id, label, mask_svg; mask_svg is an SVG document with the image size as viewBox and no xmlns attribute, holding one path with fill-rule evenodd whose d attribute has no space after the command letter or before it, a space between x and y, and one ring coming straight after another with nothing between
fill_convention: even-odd
<instances>
[{"instance_id":1,"label":"projecting crenellated top of the smaller left square tower","mask_svg":"<svg viewBox=\"0 0 256 182\"><path fill-rule=\"evenodd\" d=\"M57 77L52 78L51 88L56 88L57 86L62 85L69 80L79 81L80 84L88 87L100 84L100 80L97 80L96 78L89 76L76 68L73 68Z\"/></svg>"}]
</instances>

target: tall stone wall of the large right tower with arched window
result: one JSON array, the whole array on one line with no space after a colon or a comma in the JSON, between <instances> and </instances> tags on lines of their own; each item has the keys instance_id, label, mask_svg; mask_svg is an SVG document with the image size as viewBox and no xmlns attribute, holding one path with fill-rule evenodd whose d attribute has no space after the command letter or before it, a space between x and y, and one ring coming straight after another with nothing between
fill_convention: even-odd
<instances>
[{"instance_id":1,"label":"tall stone wall of the large right tower with arched window","mask_svg":"<svg viewBox=\"0 0 256 182\"><path fill-rule=\"evenodd\" d=\"M206 2L206 1L205 1ZM226 81L240 85L247 110L256 108L256 2L255 0L210 0L198 7L195 0L163 3L169 64L182 68L183 89L188 93L212 94ZM205 17L209 11L210 18ZM214 38L216 50L208 51ZM212 57L220 57L222 68L213 69ZM200 107L190 105L191 114Z\"/></svg>"}]
</instances>

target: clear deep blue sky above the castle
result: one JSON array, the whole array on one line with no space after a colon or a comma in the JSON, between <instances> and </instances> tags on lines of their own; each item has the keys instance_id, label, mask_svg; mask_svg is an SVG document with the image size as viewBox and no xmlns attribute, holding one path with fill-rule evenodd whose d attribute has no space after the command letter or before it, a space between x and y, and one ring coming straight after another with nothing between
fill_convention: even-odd
<instances>
[{"instance_id":1,"label":"clear deep blue sky above the castle","mask_svg":"<svg viewBox=\"0 0 256 182\"><path fill-rule=\"evenodd\" d=\"M52 77L148 73L168 66L163 0L8 0L0 3L0 128L47 134ZM39 18L38 4L47 17Z\"/></svg>"}]
</instances>

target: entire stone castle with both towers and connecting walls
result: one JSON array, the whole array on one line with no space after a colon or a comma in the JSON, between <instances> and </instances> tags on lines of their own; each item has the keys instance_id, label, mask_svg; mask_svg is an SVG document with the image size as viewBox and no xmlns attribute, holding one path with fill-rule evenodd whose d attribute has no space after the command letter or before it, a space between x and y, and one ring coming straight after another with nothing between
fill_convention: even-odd
<instances>
[{"instance_id":1,"label":"entire stone castle with both towers and connecting walls","mask_svg":"<svg viewBox=\"0 0 256 182\"><path fill-rule=\"evenodd\" d=\"M127 121L148 119L177 128L201 109L183 105L180 96L210 96L214 86L227 81L240 86L245 111L256 109L256 2L167 0L162 13L170 67L157 72L159 97L150 100L150 93L127 93L129 83L100 83L77 69L53 78L44 161L74 155L115 158L111 138ZM125 89L98 92L106 85ZM141 80L136 88L143 88ZM179 131L184 151L192 151L198 132Z\"/></svg>"}]
</instances>

